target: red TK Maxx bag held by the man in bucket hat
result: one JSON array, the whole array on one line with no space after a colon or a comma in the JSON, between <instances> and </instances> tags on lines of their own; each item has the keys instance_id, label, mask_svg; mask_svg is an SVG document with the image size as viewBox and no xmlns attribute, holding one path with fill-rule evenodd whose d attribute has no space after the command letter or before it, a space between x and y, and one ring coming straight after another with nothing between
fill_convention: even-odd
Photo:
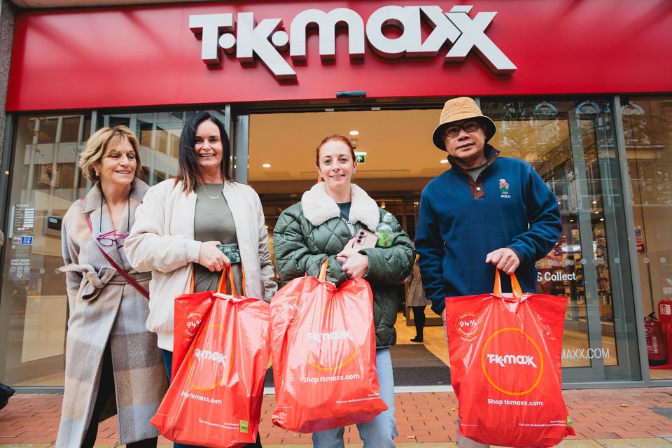
<instances>
[{"instance_id":1,"label":"red TK Maxx bag held by the man in bucket hat","mask_svg":"<svg viewBox=\"0 0 672 448\"><path fill-rule=\"evenodd\" d=\"M567 297L523 294L515 276L503 295L446 297L451 382L459 432L485 444L552 447L574 435L562 398Z\"/></svg>"}]
</instances>

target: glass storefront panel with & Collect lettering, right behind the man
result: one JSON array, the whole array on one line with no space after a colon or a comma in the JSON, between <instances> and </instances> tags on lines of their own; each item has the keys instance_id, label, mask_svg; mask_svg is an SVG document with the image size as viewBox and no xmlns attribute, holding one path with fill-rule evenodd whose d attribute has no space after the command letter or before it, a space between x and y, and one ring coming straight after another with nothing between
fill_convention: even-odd
<instances>
[{"instance_id":1,"label":"glass storefront panel with & Collect lettering, right behind the man","mask_svg":"<svg viewBox=\"0 0 672 448\"><path fill-rule=\"evenodd\" d=\"M540 293L570 297L562 365L584 369L563 379L638 379L610 102L484 100L482 109L498 127L491 144L530 163L558 198L563 235L537 267Z\"/></svg>"}]
</instances>

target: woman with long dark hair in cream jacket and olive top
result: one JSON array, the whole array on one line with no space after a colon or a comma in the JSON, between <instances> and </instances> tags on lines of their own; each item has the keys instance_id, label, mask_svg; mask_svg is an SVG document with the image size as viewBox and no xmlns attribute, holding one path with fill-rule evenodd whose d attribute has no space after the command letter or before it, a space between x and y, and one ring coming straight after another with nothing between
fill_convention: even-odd
<instances>
[{"instance_id":1,"label":"woman with long dark hair in cream jacket and olive top","mask_svg":"<svg viewBox=\"0 0 672 448\"><path fill-rule=\"evenodd\" d=\"M158 336L168 377L177 295L217 290L225 267L231 267L241 291L244 266L247 297L270 302L277 289L259 196L232 179L228 135L214 114L203 111L187 121L178 159L176 179L148 190L126 240L131 264L152 274L147 328ZM224 251L237 257L230 260ZM257 438L247 446L261 447L261 442Z\"/></svg>"}]
</instances>

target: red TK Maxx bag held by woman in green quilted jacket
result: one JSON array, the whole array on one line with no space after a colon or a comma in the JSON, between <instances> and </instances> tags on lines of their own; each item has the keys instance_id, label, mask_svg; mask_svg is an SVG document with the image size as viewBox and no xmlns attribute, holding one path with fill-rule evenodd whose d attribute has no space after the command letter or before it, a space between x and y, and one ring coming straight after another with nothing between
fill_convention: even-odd
<instances>
[{"instance_id":1,"label":"red TK Maxx bag held by woman in green quilted jacket","mask_svg":"<svg viewBox=\"0 0 672 448\"><path fill-rule=\"evenodd\" d=\"M271 301L276 426L300 433L366 423L379 395L373 295L364 279L336 288L304 276Z\"/></svg>"}]
</instances>

